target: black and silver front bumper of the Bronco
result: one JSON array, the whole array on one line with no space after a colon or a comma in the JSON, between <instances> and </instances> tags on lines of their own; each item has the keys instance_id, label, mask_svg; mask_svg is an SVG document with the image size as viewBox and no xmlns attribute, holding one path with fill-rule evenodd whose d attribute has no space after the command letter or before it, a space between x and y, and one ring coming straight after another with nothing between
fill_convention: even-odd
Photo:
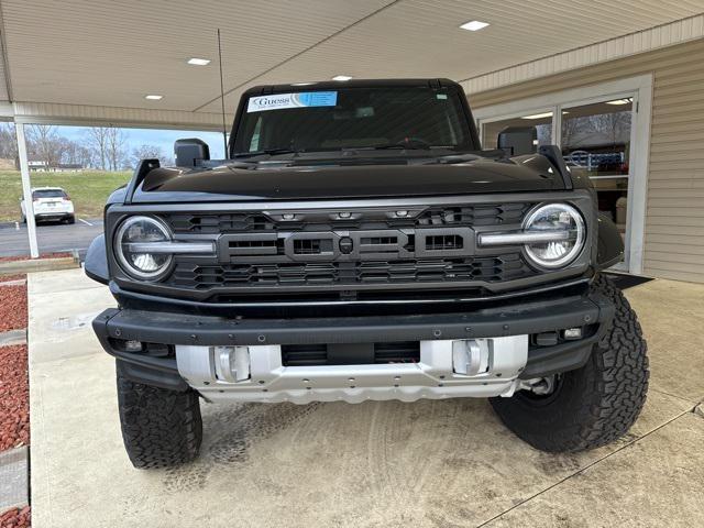
<instances>
[{"instance_id":1,"label":"black and silver front bumper of the Bronco","mask_svg":"<svg viewBox=\"0 0 704 528\"><path fill-rule=\"evenodd\" d=\"M582 366L613 315L614 307L605 297L590 294L466 314L383 318L232 320L108 309L96 318L94 329L105 350L118 359L121 374L141 383L177 391L191 386L211 400L356 403L508 396L520 380ZM574 327L585 329L582 339L549 345L535 342L537 334ZM506 348L506 342L496 339L508 337L525 337L525 353L514 350L516 340L508 340L514 344ZM476 375L454 371L452 342L484 338L495 344L488 370ZM145 351L127 352L120 346L130 340L147 343ZM314 366L284 366L282 362L280 345L397 341L420 342L420 361ZM150 343L170 345L177 353L150 355ZM218 375L218 346L249 348L248 378L235 382Z\"/></svg>"}]
</instances>

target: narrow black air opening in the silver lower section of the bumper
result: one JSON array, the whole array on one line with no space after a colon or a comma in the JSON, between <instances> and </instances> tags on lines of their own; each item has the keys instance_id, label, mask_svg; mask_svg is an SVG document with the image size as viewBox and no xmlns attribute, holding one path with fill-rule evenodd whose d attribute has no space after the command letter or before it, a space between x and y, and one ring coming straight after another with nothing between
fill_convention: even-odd
<instances>
[{"instance_id":1,"label":"narrow black air opening in the silver lower section of the bumper","mask_svg":"<svg viewBox=\"0 0 704 528\"><path fill-rule=\"evenodd\" d=\"M361 344L284 344L284 366L366 365L418 363L418 341Z\"/></svg>"}]
</instances>

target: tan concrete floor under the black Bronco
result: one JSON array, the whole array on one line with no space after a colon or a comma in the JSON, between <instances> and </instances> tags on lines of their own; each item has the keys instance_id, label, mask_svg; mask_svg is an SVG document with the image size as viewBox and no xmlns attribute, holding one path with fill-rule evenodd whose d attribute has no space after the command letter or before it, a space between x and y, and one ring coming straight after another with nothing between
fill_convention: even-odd
<instances>
[{"instance_id":1,"label":"tan concrete floor under the black Bronco","mask_svg":"<svg viewBox=\"0 0 704 528\"><path fill-rule=\"evenodd\" d=\"M622 440L536 451L485 400L207 405L199 460L132 469L113 305L79 270L30 276L32 524L44 527L704 526L704 285L628 290L650 344L646 408Z\"/></svg>"}]
</instances>

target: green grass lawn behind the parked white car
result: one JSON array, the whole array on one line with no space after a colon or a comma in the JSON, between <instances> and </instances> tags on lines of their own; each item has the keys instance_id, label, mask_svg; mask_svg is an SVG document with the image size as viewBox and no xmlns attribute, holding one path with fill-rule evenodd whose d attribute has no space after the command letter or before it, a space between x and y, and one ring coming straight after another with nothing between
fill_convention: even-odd
<instances>
[{"instance_id":1,"label":"green grass lawn behind the parked white car","mask_svg":"<svg viewBox=\"0 0 704 528\"><path fill-rule=\"evenodd\" d=\"M128 183L132 172L108 173L30 173L32 187L63 187L70 196L76 215L81 218L101 218L106 198ZM0 222L20 221L22 179L18 170L0 170Z\"/></svg>"}]
</instances>

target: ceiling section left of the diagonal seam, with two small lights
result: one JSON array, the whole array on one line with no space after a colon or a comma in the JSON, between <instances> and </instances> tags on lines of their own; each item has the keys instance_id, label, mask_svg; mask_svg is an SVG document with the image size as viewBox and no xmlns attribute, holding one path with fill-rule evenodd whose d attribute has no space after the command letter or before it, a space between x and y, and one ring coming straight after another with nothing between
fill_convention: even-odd
<instances>
[{"instance_id":1,"label":"ceiling section left of the diagonal seam, with two small lights","mask_svg":"<svg viewBox=\"0 0 704 528\"><path fill-rule=\"evenodd\" d=\"M16 100L194 110L220 91L218 26L237 86L387 3L3 0L2 12Z\"/></svg>"}]
</instances>

